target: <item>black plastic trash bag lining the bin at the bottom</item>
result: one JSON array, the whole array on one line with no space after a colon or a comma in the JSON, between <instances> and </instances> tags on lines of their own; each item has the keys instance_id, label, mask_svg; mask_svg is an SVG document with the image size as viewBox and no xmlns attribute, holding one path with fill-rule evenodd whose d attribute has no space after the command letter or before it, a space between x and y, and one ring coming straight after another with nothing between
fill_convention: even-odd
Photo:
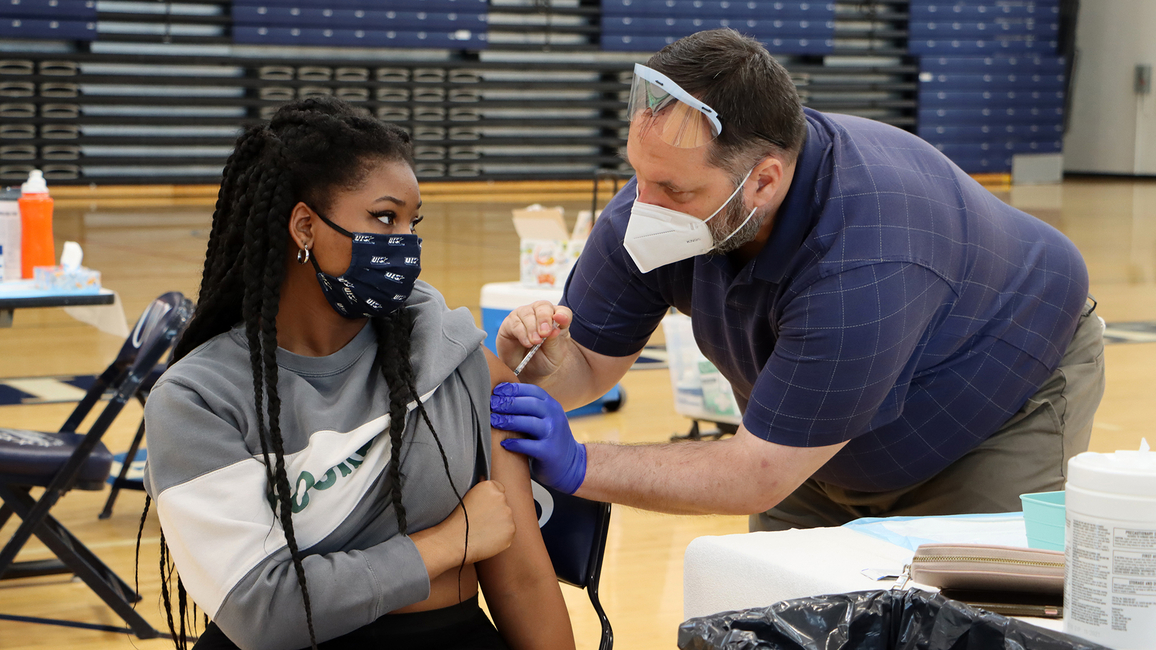
<instances>
[{"instance_id":1,"label":"black plastic trash bag lining the bin at the bottom","mask_svg":"<svg viewBox=\"0 0 1156 650\"><path fill-rule=\"evenodd\" d=\"M924 591L860 591L679 626L681 650L1109 650Z\"/></svg>"}]
</instances>

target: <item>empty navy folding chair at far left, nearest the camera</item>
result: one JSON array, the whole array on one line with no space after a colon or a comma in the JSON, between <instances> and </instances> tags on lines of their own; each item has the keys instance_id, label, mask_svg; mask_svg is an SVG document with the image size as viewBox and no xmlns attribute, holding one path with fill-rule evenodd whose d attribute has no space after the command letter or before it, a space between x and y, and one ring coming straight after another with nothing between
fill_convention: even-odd
<instances>
[{"instance_id":1,"label":"empty navy folding chair at far left, nearest the camera","mask_svg":"<svg viewBox=\"0 0 1156 650\"><path fill-rule=\"evenodd\" d=\"M94 383L59 433L0 429L0 526L17 515L20 526L0 551L0 578L18 578L52 574L75 574L127 623L127 631L140 638L161 633L153 628L132 604L140 596L80 539L50 514L52 507L69 489L102 489L109 477L112 455L101 437L116 420L125 404L140 390L141 383L172 346L193 315L193 303L178 293L165 294L153 302L133 330L121 354ZM112 391L108 406L87 433L76 429L84 421L105 390ZM32 487L44 487L34 498ZM57 556L57 560L16 562L16 554L31 535ZM0 619L67 625L102 630L125 631L111 626L75 623L51 619L29 619L0 614Z\"/></svg>"}]
</instances>

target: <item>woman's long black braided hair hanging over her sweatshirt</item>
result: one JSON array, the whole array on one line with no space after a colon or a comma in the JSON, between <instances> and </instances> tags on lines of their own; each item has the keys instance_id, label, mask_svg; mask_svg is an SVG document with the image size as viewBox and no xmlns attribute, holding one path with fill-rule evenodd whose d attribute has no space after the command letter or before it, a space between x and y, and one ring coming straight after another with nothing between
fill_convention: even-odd
<instances>
[{"instance_id":1,"label":"woman's long black braided hair hanging over her sweatshirt","mask_svg":"<svg viewBox=\"0 0 1156 650\"><path fill-rule=\"evenodd\" d=\"M289 245L289 215L298 201L314 209L329 207L331 193L356 189L369 170L380 162L403 161L413 165L413 141L403 130L354 111L332 97L317 97L282 106L267 125L253 126L238 140L225 162L221 191L213 213L205 269L197 311L172 353L176 362L191 350L244 323L253 371L253 399L257 427L265 460L266 495L274 517L281 523L294 569L301 585L310 644L316 649L313 613L302 553L292 522L291 486L286 473L281 436L281 399L277 394L276 316ZM400 458L406 414L410 404L433 434L450 486L462 503L461 493L450 475L450 464L442 442L417 394L409 362L413 316L400 309L372 320L378 348L375 357L390 391L390 480L398 530L407 534L406 508L401 501ZM265 405L265 408L261 408ZM141 514L140 539L150 498ZM469 520L466 519L468 545ZM462 567L465 567L465 553ZM460 589L459 568L459 589ZM173 582L177 592L177 621L172 612ZM161 593L169 630L177 648L187 648L186 628L193 629L195 604L188 598L176 574L164 532L161 533ZM207 619L206 619L207 620ZM186 626L186 621L188 625Z\"/></svg>"}]
</instances>

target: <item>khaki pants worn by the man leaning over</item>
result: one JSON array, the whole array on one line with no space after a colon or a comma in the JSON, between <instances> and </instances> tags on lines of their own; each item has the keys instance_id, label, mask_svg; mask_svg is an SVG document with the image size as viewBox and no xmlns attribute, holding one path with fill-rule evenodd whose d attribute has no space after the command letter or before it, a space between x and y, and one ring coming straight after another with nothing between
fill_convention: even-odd
<instances>
[{"instance_id":1,"label":"khaki pants worn by the man leaning over","mask_svg":"<svg viewBox=\"0 0 1156 650\"><path fill-rule=\"evenodd\" d=\"M1068 459L1088 450L1104 396L1104 322L1085 309L1060 367L1000 430L939 474L868 493L807 479L751 531L840 526L859 517L1015 512L1020 495L1064 489Z\"/></svg>"}]
</instances>

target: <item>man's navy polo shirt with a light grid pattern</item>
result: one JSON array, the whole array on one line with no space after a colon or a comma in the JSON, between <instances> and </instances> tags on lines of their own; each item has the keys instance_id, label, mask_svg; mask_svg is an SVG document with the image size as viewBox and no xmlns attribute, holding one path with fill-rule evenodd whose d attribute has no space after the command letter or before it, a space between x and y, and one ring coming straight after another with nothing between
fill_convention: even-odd
<instances>
[{"instance_id":1,"label":"man's navy polo shirt with a light grid pattern","mask_svg":"<svg viewBox=\"0 0 1156 650\"><path fill-rule=\"evenodd\" d=\"M996 431L1060 363L1088 271L1058 230L898 128L806 110L807 142L758 256L640 273L631 180L566 282L573 339L638 352L669 306L731 382L754 435L850 441L815 478L914 485Z\"/></svg>"}]
</instances>

